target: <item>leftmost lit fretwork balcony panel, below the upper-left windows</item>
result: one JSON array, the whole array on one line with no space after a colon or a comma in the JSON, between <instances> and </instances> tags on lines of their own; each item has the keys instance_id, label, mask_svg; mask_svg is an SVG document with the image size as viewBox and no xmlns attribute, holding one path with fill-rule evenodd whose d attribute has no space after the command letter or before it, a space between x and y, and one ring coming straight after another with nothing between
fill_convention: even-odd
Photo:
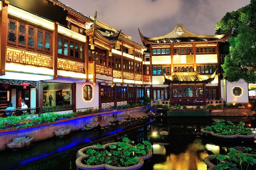
<instances>
[{"instance_id":1,"label":"leftmost lit fretwork balcony panel, below the upper-left windows","mask_svg":"<svg viewBox=\"0 0 256 170\"><path fill-rule=\"evenodd\" d=\"M6 62L52 68L52 56L7 48Z\"/></svg>"}]
</instances>

